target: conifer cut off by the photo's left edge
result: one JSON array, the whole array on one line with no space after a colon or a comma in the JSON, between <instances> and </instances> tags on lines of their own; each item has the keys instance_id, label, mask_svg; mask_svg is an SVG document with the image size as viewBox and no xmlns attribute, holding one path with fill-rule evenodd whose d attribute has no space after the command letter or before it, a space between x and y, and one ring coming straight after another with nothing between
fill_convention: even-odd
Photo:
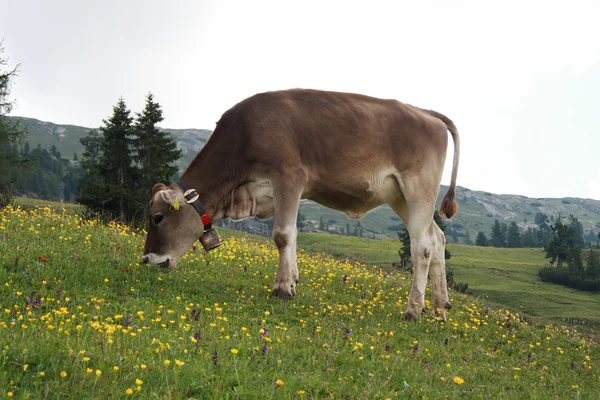
<instances>
[{"instance_id":1,"label":"conifer cut off by the photo's left edge","mask_svg":"<svg viewBox=\"0 0 600 400\"><path fill-rule=\"evenodd\" d=\"M15 152L17 141L25 134L18 122L8 119L14 101L9 98L11 81L17 75L19 65L8 67L8 59L2 57L4 47L0 42L0 207L12 202L14 184L18 178L17 166L24 160Z\"/></svg>"}]
</instances>

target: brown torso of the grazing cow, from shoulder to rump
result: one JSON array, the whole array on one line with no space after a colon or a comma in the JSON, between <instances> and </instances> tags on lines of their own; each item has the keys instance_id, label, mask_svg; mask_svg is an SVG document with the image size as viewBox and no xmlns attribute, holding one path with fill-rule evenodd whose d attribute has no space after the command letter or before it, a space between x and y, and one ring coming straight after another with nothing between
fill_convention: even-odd
<instances>
[{"instance_id":1,"label":"brown torso of the grazing cow, from shoulder to rump","mask_svg":"<svg viewBox=\"0 0 600 400\"><path fill-rule=\"evenodd\" d=\"M401 195L403 173L443 168L446 146L443 122L411 105L293 89L236 104L202 152L227 152L243 181L305 174L304 198L361 216Z\"/></svg>"}]
</instances>

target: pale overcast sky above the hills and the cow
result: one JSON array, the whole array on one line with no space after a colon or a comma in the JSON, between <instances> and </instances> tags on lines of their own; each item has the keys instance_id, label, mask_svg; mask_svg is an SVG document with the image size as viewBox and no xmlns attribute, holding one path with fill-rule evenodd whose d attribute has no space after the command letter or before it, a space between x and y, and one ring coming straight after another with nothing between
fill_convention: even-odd
<instances>
[{"instance_id":1,"label":"pale overcast sky above the hills and the cow","mask_svg":"<svg viewBox=\"0 0 600 400\"><path fill-rule=\"evenodd\" d=\"M450 117L460 186L600 200L599 17L576 0L0 0L0 40L12 115L98 127L152 92L163 127L212 130L255 93L362 93Z\"/></svg>"}]
</instances>

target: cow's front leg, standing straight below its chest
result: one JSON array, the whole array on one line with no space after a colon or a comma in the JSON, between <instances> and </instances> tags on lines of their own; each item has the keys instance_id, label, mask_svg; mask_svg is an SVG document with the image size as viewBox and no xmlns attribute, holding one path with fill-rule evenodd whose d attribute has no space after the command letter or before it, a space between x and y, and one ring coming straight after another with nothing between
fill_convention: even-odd
<instances>
[{"instance_id":1,"label":"cow's front leg, standing straight below its chest","mask_svg":"<svg viewBox=\"0 0 600 400\"><path fill-rule=\"evenodd\" d=\"M285 183L273 184L273 239L279 250L279 265L275 274L273 295L290 299L296 295L298 283L298 265L296 263L296 219L298 205L302 195L301 185Z\"/></svg>"}]
</instances>

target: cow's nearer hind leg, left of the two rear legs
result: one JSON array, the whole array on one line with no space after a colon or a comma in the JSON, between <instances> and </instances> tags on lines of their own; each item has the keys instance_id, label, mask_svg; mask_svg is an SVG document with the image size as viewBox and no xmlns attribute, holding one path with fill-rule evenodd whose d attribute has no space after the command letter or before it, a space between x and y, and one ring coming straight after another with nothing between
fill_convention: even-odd
<instances>
[{"instance_id":1,"label":"cow's nearer hind leg, left of the two rear legs","mask_svg":"<svg viewBox=\"0 0 600 400\"><path fill-rule=\"evenodd\" d=\"M425 309L427 276L436 247L436 235L432 227L434 205L421 202L398 201L391 204L402 218L410 235L410 254L414 267L413 284L408 298L406 319L416 319Z\"/></svg>"}]
</instances>

